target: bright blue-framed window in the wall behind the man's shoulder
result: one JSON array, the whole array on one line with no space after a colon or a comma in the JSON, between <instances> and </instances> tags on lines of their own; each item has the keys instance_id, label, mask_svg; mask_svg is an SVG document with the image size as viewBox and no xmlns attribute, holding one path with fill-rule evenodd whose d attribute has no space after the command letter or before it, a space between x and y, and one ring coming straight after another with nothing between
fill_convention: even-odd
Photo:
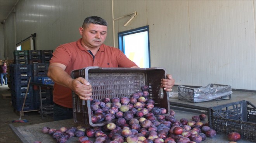
<instances>
[{"instance_id":1,"label":"bright blue-framed window in the wall behind the man's shoulder","mask_svg":"<svg viewBox=\"0 0 256 143\"><path fill-rule=\"evenodd\" d=\"M140 68L150 67L149 26L118 33L119 49Z\"/></svg>"}]
</instances>

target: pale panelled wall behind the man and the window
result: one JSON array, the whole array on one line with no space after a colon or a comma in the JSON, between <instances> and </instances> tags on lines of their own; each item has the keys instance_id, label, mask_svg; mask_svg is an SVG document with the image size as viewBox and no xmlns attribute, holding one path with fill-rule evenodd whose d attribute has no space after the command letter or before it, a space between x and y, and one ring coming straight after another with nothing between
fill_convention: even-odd
<instances>
[{"instance_id":1,"label":"pale panelled wall behind the man and the window","mask_svg":"<svg viewBox=\"0 0 256 143\"><path fill-rule=\"evenodd\" d=\"M118 32L149 25L152 67L166 68L179 85L208 83L256 90L254 0L113 0ZM16 43L36 33L36 49L55 49L80 38L85 17L97 15L109 23L105 44L114 45L111 0L19 0L16 6ZM12 19L10 17L8 19ZM7 20L8 54L15 46ZM10 33L9 33L10 31ZM12 41L11 41L12 40ZM8 47L7 47L8 46Z\"/></svg>"}]
</instances>

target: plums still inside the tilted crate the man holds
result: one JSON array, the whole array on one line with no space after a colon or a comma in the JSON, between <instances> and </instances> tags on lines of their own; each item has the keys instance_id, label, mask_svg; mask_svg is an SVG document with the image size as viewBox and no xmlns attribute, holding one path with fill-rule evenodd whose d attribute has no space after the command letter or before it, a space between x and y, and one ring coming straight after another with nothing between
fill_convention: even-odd
<instances>
[{"instance_id":1,"label":"plums still inside the tilted crate the man holds","mask_svg":"<svg viewBox=\"0 0 256 143\"><path fill-rule=\"evenodd\" d=\"M149 99L149 87L144 85L141 91L133 93L131 97L112 97L101 100L94 99L90 102L92 123L101 123L102 121L130 120L133 117L144 117L149 112L151 115L166 114L166 109L154 107L154 100ZM155 120L155 116L148 116L147 119ZM121 119L120 119L121 118Z\"/></svg>"}]
</instances>

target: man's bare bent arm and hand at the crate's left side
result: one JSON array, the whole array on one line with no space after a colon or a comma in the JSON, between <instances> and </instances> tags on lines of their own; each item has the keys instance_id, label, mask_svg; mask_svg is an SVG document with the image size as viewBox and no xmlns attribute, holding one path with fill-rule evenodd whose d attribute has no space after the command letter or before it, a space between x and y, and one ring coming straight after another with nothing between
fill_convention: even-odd
<instances>
[{"instance_id":1,"label":"man's bare bent arm and hand at the crate's left side","mask_svg":"<svg viewBox=\"0 0 256 143\"><path fill-rule=\"evenodd\" d=\"M89 100L92 96L92 85L90 85L85 78L71 78L71 76L65 72L65 69L66 66L61 63L51 63L48 67L47 76L55 83L69 87L80 99Z\"/></svg>"}]
</instances>

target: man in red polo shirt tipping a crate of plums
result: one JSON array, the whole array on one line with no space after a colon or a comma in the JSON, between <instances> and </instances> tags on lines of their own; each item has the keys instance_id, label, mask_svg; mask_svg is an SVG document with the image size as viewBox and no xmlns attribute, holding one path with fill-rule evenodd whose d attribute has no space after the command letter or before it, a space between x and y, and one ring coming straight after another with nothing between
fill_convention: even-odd
<instances>
[{"instance_id":1,"label":"man in red polo shirt tipping a crate of plums","mask_svg":"<svg viewBox=\"0 0 256 143\"><path fill-rule=\"evenodd\" d=\"M87 17L79 28L81 39L60 45L53 53L48 77L54 81L54 120L73 118L72 90L83 100L90 100L92 85L85 78L71 78L73 70L87 66L138 68L117 48L104 43L107 36L106 20ZM171 75L162 79L164 90L171 91L174 80Z\"/></svg>"}]
</instances>

